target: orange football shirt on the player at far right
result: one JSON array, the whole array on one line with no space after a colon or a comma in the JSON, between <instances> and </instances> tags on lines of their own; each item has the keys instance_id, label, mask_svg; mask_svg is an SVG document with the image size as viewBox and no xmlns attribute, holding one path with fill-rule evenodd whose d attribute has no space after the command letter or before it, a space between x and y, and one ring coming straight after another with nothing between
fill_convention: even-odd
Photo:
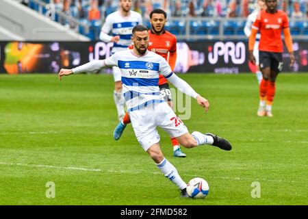
<instances>
[{"instance_id":1,"label":"orange football shirt on the player at far right","mask_svg":"<svg viewBox=\"0 0 308 219\"><path fill-rule=\"evenodd\" d=\"M283 52L282 29L289 27L287 14L281 10L270 14L263 10L257 16L253 29L260 31L259 51L270 51L274 53Z\"/></svg>"}]
</instances>

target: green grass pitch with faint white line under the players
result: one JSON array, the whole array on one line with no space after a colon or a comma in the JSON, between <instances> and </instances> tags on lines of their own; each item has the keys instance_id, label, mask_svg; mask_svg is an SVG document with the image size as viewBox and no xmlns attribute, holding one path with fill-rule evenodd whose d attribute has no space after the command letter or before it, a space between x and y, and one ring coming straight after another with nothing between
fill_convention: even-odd
<instances>
[{"instance_id":1,"label":"green grass pitch with faint white line under the players","mask_svg":"<svg viewBox=\"0 0 308 219\"><path fill-rule=\"evenodd\" d=\"M217 133L232 151L213 146L165 157L185 181L203 177L209 195L180 198L136 140L131 125L119 141L112 75L0 76L0 205L307 205L308 74L277 79L274 118L256 115L255 75L180 75L210 103L192 99L190 132ZM47 182L55 198L47 198ZM260 198L252 198L253 182Z\"/></svg>"}]
</instances>

